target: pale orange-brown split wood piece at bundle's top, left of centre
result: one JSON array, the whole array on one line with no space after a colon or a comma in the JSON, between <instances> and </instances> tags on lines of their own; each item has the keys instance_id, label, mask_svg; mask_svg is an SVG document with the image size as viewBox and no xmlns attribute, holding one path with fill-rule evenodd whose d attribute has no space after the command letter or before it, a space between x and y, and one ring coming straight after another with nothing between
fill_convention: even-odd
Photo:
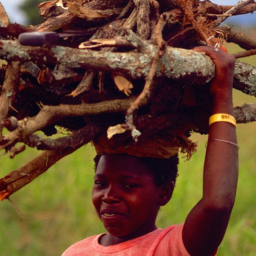
<instances>
[{"instance_id":1,"label":"pale orange-brown split wood piece at bundle's top, left of centre","mask_svg":"<svg viewBox=\"0 0 256 256\"><path fill-rule=\"evenodd\" d=\"M103 15L98 11L93 11L92 9L86 8L79 3L67 2L68 10L71 14L79 18L103 18L109 15Z\"/></svg>"}]
</instances>

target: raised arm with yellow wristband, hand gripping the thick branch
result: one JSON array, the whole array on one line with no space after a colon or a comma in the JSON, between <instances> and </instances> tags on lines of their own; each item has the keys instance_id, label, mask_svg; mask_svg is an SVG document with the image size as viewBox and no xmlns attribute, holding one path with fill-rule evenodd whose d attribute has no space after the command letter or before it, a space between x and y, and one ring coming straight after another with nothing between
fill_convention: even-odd
<instances>
[{"instance_id":1,"label":"raised arm with yellow wristband, hand gripping the thick branch","mask_svg":"<svg viewBox=\"0 0 256 256\"><path fill-rule=\"evenodd\" d=\"M232 118L235 60L214 47L203 46L195 50L210 56L216 69L210 87L212 117L203 170L203 198L187 216L182 238L190 255L207 256L216 252L224 237L237 188L238 146L235 119Z\"/></svg>"}]
</instances>

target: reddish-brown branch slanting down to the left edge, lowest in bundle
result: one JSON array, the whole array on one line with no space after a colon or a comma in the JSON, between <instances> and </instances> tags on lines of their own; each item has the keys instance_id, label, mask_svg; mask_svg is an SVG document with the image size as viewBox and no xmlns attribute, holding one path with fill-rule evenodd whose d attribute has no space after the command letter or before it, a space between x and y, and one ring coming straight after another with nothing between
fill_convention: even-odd
<instances>
[{"instance_id":1,"label":"reddish-brown branch slanting down to the left edge, lowest in bundle","mask_svg":"<svg viewBox=\"0 0 256 256\"><path fill-rule=\"evenodd\" d=\"M73 134L57 140L35 140L38 147L49 148L22 168L10 172L0 179L0 201L8 199L11 194L46 172L53 164L68 154L93 140L102 128L94 123L88 124ZM49 145L53 143L52 146ZM34 145L35 146L35 145ZM54 150L53 150L54 149Z\"/></svg>"}]
</instances>

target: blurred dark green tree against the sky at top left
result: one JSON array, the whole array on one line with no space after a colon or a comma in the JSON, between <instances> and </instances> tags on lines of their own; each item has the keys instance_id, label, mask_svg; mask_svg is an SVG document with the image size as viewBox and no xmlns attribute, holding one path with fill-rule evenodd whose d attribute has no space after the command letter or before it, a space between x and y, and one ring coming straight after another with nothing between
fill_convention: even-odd
<instances>
[{"instance_id":1,"label":"blurred dark green tree against the sky at top left","mask_svg":"<svg viewBox=\"0 0 256 256\"><path fill-rule=\"evenodd\" d=\"M37 25L44 21L39 15L38 4L42 3L42 0L23 0L22 4L18 8L26 15L26 25Z\"/></svg>"}]
</instances>

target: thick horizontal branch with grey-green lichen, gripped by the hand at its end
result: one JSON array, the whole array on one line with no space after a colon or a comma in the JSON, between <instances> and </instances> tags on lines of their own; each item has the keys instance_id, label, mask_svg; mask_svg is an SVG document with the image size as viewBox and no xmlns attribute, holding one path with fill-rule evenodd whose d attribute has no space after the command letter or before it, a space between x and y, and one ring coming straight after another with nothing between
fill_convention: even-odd
<instances>
[{"instance_id":1,"label":"thick horizontal branch with grey-green lichen, gripped by the hand at its end","mask_svg":"<svg viewBox=\"0 0 256 256\"><path fill-rule=\"evenodd\" d=\"M157 52L151 45L148 53L136 51L128 53L109 53L89 49L71 49L62 46L30 47L15 41L0 40L0 58L7 61L28 60L38 63L56 63L71 68L115 71L133 79L146 77ZM192 50L167 47L156 76L166 76L180 81L204 84L212 79L214 65L211 59Z\"/></svg>"}]
</instances>

